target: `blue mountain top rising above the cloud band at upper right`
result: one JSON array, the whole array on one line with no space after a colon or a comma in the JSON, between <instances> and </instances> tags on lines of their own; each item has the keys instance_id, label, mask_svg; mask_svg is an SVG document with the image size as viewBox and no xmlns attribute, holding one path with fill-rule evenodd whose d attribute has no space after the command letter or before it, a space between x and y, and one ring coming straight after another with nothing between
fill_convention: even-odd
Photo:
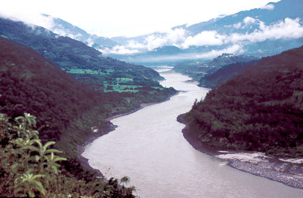
<instances>
[{"instance_id":1,"label":"blue mountain top rising above the cloud band at upper right","mask_svg":"<svg viewBox=\"0 0 303 198\"><path fill-rule=\"evenodd\" d=\"M282 0L277 3L268 3L261 9L242 11L234 15L222 16L201 22L186 28L190 35L197 35L202 31L217 31L220 34L251 33L259 28L253 19L270 25L277 21L284 21L285 18L303 19L303 2L300 0ZM248 18L247 18L248 17ZM244 21L244 19L246 20Z\"/></svg>"}]
</instances>

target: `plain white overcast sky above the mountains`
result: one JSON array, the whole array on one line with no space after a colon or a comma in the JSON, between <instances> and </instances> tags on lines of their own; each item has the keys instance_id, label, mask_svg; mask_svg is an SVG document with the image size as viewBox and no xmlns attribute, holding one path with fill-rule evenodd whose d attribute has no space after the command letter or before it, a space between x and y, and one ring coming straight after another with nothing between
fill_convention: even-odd
<instances>
[{"instance_id":1,"label":"plain white overcast sky above the mountains","mask_svg":"<svg viewBox=\"0 0 303 198\"><path fill-rule=\"evenodd\" d=\"M138 36L219 15L261 8L277 0L2 0L0 16L43 26L39 13L61 18L98 36ZM47 26L47 25L46 25ZM45 27L45 25L43 26Z\"/></svg>"}]
</instances>

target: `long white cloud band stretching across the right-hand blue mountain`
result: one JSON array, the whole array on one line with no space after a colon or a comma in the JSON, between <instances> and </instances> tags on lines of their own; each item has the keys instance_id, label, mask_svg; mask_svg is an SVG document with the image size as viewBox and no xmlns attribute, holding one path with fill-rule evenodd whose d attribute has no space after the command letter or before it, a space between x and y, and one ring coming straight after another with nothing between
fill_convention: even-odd
<instances>
[{"instance_id":1,"label":"long white cloud band stretching across the right-hand blue mountain","mask_svg":"<svg viewBox=\"0 0 303 198\"><path fill-rule=\"evenodd\" d=\"M233 29L231 34L218 33L217 31L202 31L196 35L189 35L189 32L182 28L170 30L167 33L152 34L145 37L143 42L131 40L127 45L116 46L103 51L105 54L128 54L151 51L162 46L174 45L181 49L187 49L192 45L196 46L220 46L229 44L240 46L245 43L261 42L267 39L297 39L303 37L303 26L300 19L286 18L276 23L266 25L263 21L252 17L246 17L242 22L230 25L226 28ZM241 29L248 28L245 33ZM254 29L255 28L255 29ZM237 31L239 30L239 31ZM128 50L127 50L128 49Z\"/></svg>"}]
</instances>

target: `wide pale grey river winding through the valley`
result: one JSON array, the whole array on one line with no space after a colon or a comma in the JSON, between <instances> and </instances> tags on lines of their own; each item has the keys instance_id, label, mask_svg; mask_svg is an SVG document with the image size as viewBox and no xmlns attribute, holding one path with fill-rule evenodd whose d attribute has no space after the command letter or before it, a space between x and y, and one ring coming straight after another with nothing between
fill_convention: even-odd
<instances>
[{"instance_id":1,"label":"wide pale grey river winding through the valley","mask_svg":"<svg viewBox=\"0 0 303 198\"><path fill-rule=\"evenodd\" d=\"M303 197L302 189L233 169L193 149L176 118L209 90L183 83L186 76L161 75L163 86L186 92L111 120L116 130L85 147L90 166L108 178L129 176L141 198Z\"/></svg>"}]
</instances>

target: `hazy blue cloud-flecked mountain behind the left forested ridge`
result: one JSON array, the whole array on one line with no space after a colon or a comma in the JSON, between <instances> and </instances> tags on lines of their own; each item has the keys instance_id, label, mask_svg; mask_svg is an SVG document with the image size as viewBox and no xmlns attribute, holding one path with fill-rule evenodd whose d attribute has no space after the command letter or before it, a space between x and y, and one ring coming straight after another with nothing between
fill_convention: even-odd
<instances>
[{"instance_id":1,"label":"hazy blue cloud-flecked mountain behind the left forested ridge","mask_svg":"<svg viewBox=\"0 0 303 198\"><path fill-rule=\"evenodd\" d=\"M51 17L49 15L43 15L45 17ZM61 36L68 36L70 38L76 39L78 41L81 41L89 46L92 47L114 47L115 45L118 45L119 43L105 37L99 37L94 34L88 34L84 30L78 28L77 26L74 26L62 19L59 18L52 18L54 21L52 29L50 29L52 32L59 34Z\"/></svg>"}]
</instances>

